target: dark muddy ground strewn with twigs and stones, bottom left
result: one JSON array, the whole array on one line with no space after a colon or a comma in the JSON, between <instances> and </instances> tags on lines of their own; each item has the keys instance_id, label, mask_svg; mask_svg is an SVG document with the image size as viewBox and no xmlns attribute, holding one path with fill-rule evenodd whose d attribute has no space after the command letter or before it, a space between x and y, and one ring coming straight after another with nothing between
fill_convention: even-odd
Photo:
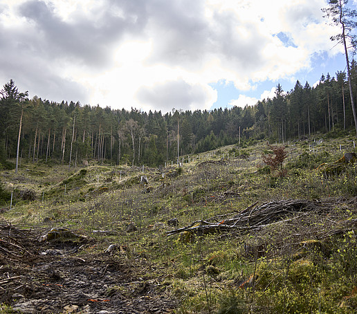
<instances>
[{"instance_id":1,"label":"dark muddy ground strewn with twigs and stones, bottom left","mask_svg":"<svg viewBox=\"0 0 357 314\"><path fill-rule=\"evenodd\" d=\"M102 314L171 313L177 306L160 277L142 278L154 267L145 259L91 254L89 239L40 242L45 232L0 223L0 304L20 313Z\"/></svg>"}]
</instances>

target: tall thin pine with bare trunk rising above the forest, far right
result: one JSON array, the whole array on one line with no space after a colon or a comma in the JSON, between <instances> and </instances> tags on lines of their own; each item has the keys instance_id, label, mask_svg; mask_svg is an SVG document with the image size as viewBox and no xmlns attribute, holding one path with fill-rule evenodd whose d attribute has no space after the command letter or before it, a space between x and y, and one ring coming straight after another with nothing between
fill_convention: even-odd
<instances>
[{"instance_id":1,"label":"tall thin pine with bare trunk rising above the forest, far right","mask_svg":"<svg viewBox=\"0 0 357 314\"><path fill-rule=\"evenodd\" d=\"M354 104L354 94L351 83L351 71L349 64L349 55L348 49L353 48L356 50L356 35L352 34L354 28L357 27L357 22L354 20L357 17L356 10L351 10L347 7L348 0L329 0L329 7L323 8L322 11L326 13L325 17L329 17L332 19L332 24L336 26L340 26L341 33L331 37L332 41L337 40L340 44L343 44L345 48L345 57L346 57L346 65L347 65L347 79L349 82L349 95L351 98L351 107L352 112L354 114L354 124L356 127L356 135L357 135L357 113L356 107ZM347 46L347 41L351 46Z\"/></svg>"}]
</instances>

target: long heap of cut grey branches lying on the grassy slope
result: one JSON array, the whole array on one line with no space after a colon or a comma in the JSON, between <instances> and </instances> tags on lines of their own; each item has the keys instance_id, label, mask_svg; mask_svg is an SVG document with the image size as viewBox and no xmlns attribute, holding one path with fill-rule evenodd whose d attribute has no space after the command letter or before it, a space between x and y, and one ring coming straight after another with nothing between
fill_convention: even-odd
<instances>
[{"instance_id":1,"label":"long heap of cut grey branches lying on the grassy slope","mask_svg":"<svg viewBox=\"0 0 357 314\"><path fill-rule=\"evenodd\" d=\"M167 236L180 232L192 232L197 235L228 231L246 233L264 228L272 223L291 221L311 212L320 212L331 208L333 205L331 202L311 202L306 200L273 201L262 205L257 205L257 203L250 205L238 214L235 212L214 216L204 221L194 221L187 227L167 232Z\"/></svg>"}]
</instances>

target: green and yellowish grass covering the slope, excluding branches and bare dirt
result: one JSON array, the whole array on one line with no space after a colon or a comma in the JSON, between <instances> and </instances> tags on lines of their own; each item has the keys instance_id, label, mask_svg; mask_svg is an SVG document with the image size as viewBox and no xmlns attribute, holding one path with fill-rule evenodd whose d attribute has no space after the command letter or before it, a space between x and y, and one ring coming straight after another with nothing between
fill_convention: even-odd
<instances>
[{"instance_id":1,"label":"green and yellowish grass covering the slope, excluding branches and bare dirt","mask_svg":"<svg viewBox=\"0 0 357 314\"><path fill-rule=\"evenodd\" d=\"M17 175L1 172L1 182L6 192L34 190L36 200L17 196L15 208L1 218L80 230L98 240L91 250L110 243L127 247L113 254L149 261L147 278L161 278L162 288L181 300L176 313L354 313L357 230L353 224L338 228L357 218L356 166L332 174L317 170L343 155L340 143L356 152L349 137L324 139L318 151L309 150L311 141L290 144L285 176L264 168L263 142L244 148L244 158L231 145L195 155L199 159L190 158L180 169L145 168L149 188L139 184L142 169L93 165L68 173L66 166L29 163ZM230 159L221 160L228 152ZM213 234L188 243L166 236L172 218L183 227L256 201L300 198L338 202L323 214L311 212L250 234ZM130 224L136 230L128 231ZM266 243L267 254L248 256L244 243ZM244 284L248 278L254 280Z\"/></svg>"}]
</instances>

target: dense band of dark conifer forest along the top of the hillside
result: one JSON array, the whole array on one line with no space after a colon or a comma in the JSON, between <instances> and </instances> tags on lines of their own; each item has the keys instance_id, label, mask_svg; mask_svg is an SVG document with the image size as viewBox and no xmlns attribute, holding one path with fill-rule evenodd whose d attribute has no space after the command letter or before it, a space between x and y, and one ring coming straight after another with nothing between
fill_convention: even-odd
<instances>
[{"instance_id":1,"label":"dense band of dark conifer forest along the top of the hillside","mask_svg":"<svg viewBox=\"0 0 357 314\"><path fill-rule=\"evenodd\" d=\"M357 66L351 65L354 95ZM80 102L27 98L10 80L1 90L0 163L28 158L74 165L82 160L127 165L164 165L178 156L251 140L286 142L311 133L354 127L344 72L322 75L317 86L296 82L275 97L245 108L170 113L91 107ZM356 102L356 100L355 100ZM21 129L20 129L21 120Z\"/></svg>"}]
</instances>

